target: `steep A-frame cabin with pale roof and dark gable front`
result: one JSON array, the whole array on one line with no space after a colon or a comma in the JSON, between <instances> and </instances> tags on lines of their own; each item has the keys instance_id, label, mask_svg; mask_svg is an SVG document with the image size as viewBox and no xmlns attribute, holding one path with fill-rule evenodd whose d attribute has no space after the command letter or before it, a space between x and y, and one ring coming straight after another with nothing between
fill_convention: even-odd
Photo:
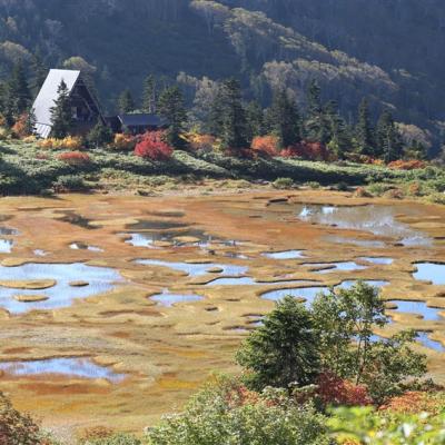
<instances>
[{"instance_id":1,"label":"steep A-frame cabin with pale roof and dark gable front","mask_svg":"<svg viewBox=\"0 0 445 445\"><path fill-rule=\"evenodd\" d=\"M99 119L105 122L99 102L82 79L81 72L51 69L33 105L36 132L41 138L48 138L51 134L51 108L58 99L57 91L62 80L67 85L71 100L73 132L87 132Z\"/></svg>"}]
</instances>

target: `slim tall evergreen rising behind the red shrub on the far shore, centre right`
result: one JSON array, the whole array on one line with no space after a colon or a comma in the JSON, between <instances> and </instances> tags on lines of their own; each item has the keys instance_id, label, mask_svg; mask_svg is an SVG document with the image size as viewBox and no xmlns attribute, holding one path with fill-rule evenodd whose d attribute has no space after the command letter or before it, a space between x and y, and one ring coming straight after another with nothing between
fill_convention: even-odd
<instances>
[{"instance_id":1,"label":"slim tall evergreen rising behind the red shrub on the far shore, centre right","mask_svg":"<svg viewBox=\"0 0 445 445\"><path fill-rule=\"evenodd\" d=\"M328 125L322 105L322 90L315 80L310 82L307 102L305 136L313 142L327 144L329 141Z\"/></svg>"}]
</instances>

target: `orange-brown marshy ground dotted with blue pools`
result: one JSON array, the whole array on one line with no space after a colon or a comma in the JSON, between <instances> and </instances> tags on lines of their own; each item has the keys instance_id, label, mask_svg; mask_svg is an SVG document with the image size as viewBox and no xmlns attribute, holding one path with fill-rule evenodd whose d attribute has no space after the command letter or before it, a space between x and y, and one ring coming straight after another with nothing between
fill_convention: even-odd
<instances>
[{"instance_id":1,"label":"orange-brown marshy ground dotted with blue pools","mask_svg":"<svg viewBox=\"0 0 445 445\"><path fill-rule=\"evenodd\" d=\"M44 425L179 409L286 293L382 288L445 383L445 207L326 190L0 200L0 390ZM442 264L441 264L442 261ZM298 290L301 289L301 290Z\"/></svg>"}]
</instances>

